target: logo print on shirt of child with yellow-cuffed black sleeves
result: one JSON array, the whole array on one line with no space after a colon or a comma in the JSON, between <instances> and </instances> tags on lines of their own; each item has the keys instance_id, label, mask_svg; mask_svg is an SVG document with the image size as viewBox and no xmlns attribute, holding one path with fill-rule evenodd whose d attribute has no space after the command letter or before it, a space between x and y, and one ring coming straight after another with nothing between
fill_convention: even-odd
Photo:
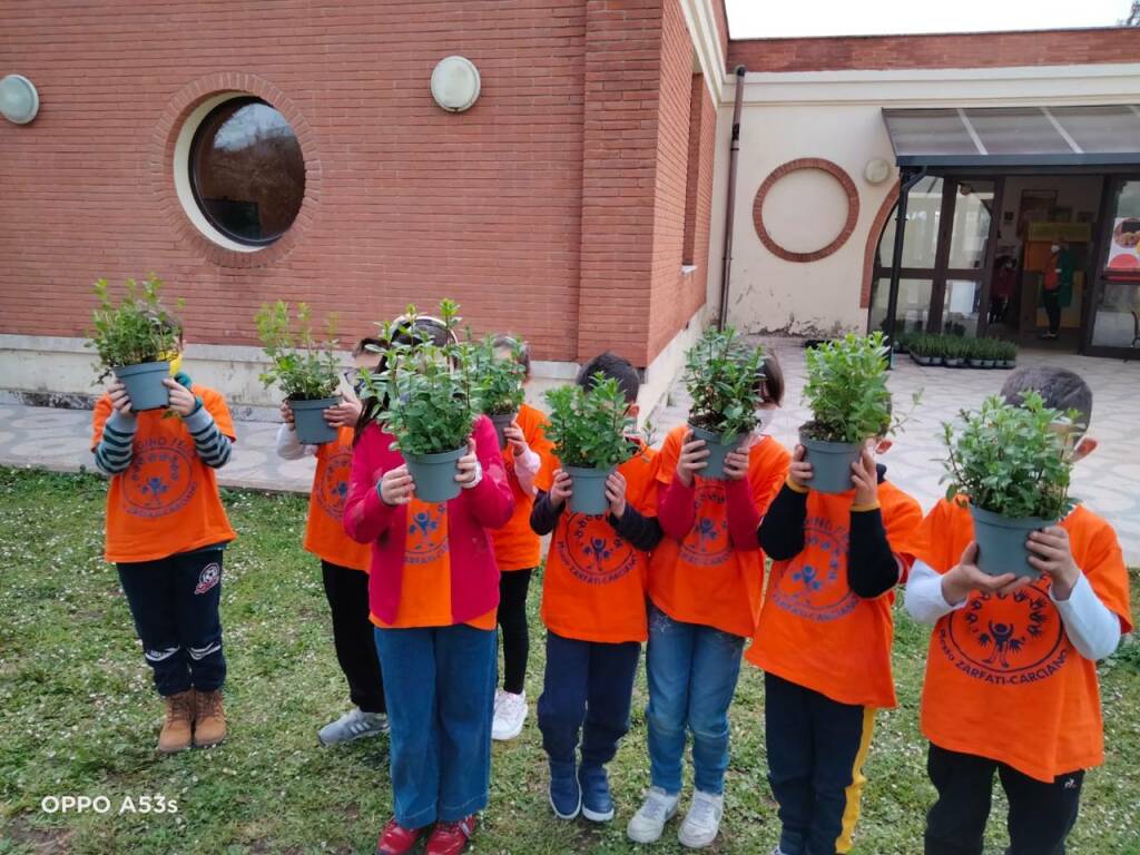
<instances>
[{"instance_id":1,"label":"logo print on shirt of child with yellow-cuffed black sleeves","mask_svg":"<svg viewBox=\"0 0 1140 855\"><path fill-rule=\"evenodd\" d=\"M804 548L772 567L769 591L780 609L822 622L842 618L858 598L847 586L847 529L824 516L804 521Z\"/></svg>"}]
</instances>

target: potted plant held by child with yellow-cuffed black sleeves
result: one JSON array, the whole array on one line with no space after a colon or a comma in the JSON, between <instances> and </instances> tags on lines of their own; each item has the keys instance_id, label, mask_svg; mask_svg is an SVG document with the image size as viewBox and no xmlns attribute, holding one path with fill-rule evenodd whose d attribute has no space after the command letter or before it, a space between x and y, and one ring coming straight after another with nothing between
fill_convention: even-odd
<instances>
[{"instance_id":1,"label":"potted plant held by child with yellow-cuffed black sleeves","mask_svg":"<svg viewBox=\"0 0 1140 855\"><path fill-rule=\"evenodd\" d=\"M804 400L813 416L799 434L813 470L808 484L819 492L846 492L864 443L902 425L891 425L882 333L848 333L807 351Z\"/></svg>"}]
</instances>

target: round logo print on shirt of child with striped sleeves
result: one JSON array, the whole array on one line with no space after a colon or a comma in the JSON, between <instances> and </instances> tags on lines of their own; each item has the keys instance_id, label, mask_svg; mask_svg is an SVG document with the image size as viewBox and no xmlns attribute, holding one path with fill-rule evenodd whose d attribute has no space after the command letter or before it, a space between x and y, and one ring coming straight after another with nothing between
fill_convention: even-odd
<instances>
[{"instance_id":1,"label":"round logo print on shirt of child with striped sleeves","mask_svg":"<svg viewBox=\"0 0 1140 855\"><path fill-rule=\"evenodd\" d=\"M194 450L185 440L154 437L137 443L123 473L123 510L152 519L181 510L197 492L193 471Z\"/></svg>"}]
</instances>

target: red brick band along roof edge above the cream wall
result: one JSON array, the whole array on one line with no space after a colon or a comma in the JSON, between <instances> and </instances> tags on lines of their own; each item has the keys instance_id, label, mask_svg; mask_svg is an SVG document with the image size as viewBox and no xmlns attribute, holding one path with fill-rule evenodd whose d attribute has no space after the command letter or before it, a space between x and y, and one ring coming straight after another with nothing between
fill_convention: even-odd
<instances>
[{"instance_id":1,"label":"red brick band along roof edge above the cream wall","mask_svg":"<svg viewBox=\"0 0 1140 855\"><path fill-rule=\"evenodd\" d=\"M1019 65L1134 63L1134 27L1015 33L748 39L728 43L728 70L750 72L879 68L986 68Z\"/></svg>"}]
</instances>

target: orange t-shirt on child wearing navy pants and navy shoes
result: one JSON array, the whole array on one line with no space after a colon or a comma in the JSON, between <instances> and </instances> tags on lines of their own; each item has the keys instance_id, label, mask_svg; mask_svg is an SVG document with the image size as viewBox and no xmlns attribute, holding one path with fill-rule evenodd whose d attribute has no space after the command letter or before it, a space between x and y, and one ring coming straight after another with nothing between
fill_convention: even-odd
<instances>
[{"instance_id":1,"label":"orange t-shirt on child wearing navy pants and navy shoes","mask_svg":"<svg viewBox=\"0 0 1140 855\"><path fill-rule=\"evenodd\" d=\"M652 448L643 448L618 466L626 479L626 504L643 516L657 513L656 457ZM543 622L564 638L645 641L648 571L649 553L614 531L606 515L563 508L543 573Z\"/></svg>"}]
</instances>

